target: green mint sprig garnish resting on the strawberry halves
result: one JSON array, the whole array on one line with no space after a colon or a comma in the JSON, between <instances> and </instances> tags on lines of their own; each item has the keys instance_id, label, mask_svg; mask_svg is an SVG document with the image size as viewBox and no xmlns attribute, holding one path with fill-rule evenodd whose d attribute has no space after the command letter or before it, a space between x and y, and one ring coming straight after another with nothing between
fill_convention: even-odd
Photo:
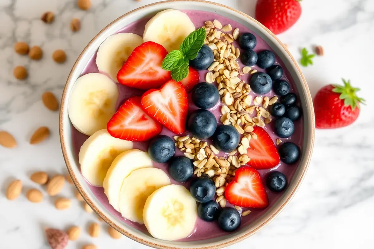
<instances>
[{"instance_id":1,"label":"green mint sprig garnish resting on the strawberry halves","mask_svg":"<svg viewBox=\"0 0 374 249\"><path fill-rule=\"evenodd\" d=\"M205 28L191 32L182 42L180 50L173 50L162 61L162 68L171 71L175 81L181 81L188 75L188 60L196 58L206 38Z\"/></svg>"}]
</instances>

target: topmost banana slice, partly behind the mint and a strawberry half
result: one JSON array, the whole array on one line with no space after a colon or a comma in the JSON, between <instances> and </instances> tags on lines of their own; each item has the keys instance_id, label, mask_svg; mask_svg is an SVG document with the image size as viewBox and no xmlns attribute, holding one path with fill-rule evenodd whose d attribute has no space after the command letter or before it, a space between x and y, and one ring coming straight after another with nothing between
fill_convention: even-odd
<instances>
[{"instance_id":1,"label":"topmost banana slice, partly behind the mint and a strawberry half","mask_svg":"<svg viewBox=\"0 0 374 249\"><path fill-rule=\"evenodd\" d=\"M157 13L145 24L143 39L144 42L161 44L170 52L178 50L184 38L194 30L195 26L186 13L167 9Z\"/></svg>"}]
</instances>

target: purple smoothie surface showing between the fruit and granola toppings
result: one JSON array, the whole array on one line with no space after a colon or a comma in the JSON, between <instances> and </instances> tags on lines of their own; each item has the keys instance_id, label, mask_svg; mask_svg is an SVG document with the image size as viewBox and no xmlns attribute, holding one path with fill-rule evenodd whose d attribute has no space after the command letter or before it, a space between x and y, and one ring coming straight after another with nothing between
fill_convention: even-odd
<instances>
[{"instance_id":1,"label":"purple smoothie surface showing between the fruit and granola toppings","mask_svg":"<svg viewBox=\"0 0 374 249\"><path fill-rule=\"evenodd\" d=\"M226 18L226 17L221 16L221 15L217 15L217 14L212 13L212 12L205 12L205 11L198 11L198 10L183 10L183 12L186 13L190 17L191 21L195 24L196 28L203 27L205 25L204 24L205 21L209 21L209 20L213 21L214 19L217 19L223 25L231 24L233 29L239 28L240 33L242 33L242 32L253 33L257 38L257 46L254 49L255 52L260 52L261 50L272 51L272 49L270 49L269 45L264 40L262 40L260 37L258 37L258 35L256 35L254 32L252 32L247 27L245 27L245 26L243 26L243 25L241 25L241 24L239 24L235 21L232 21L229 18ZM131 32L131 33L135 33L135 34L138 34L138 35L142 36L142 34L144 32L144 25L147 23L147 21L150 18L151 17L147 17L147 18L141 19L137 22L134 22L132 24L129 24L128 26L119 30L118 33L120 33L120 32ZM238 44L236 43L236 41L234 42L234 45L235 45L235 47L239 47ZM243 52L243 51L241 51L241 52ZM92 72L99 72L99 70L96 66L96 63L95 63L95 59L96 59L96 53L95 53L95 55L92 56L88 65L83 70L82 75L92 73ZM240 68L242 68L243 65L240 62L240 60L238 60L238 62L239 62ZM297 94L295 84L292 81L292 78L289 76L289 72L286 70L285 66L283 65L283 62L279 59L279 57L277 55L276 55L276 64L279 64L279 65L282 66L283 71L284 71L284 75L282 77L282 80L286 80L290 83L290 87L291 87L290 92L294 92L294 93ZM264 69L258 68L257 66L254 66L252 68L257 69L257 71L259 71L259 72L265 72ZM208 71L200 71L200 82L204 81L205 75L206 75L207 72ZM241 76L240 79L245 80L246 82L249 82L250 77L251 77L251 75L245 74L245 75ZM117 102L117 108L129 97L134 96L134 95L141 96L142 93L143 93L143 91L141 91L141 90L137 90L137 89L134 89L134 88L129 88L129 87L126 87L125 85L117 84L117 86L118 86L118 89L119 89L119 99L118 99L118 102ZM275 96L275 94L272 91L270 91L270 93L263 95L263 97L264 96L269 96L269 98L270 98L270 97ZM198 108L196 106L194 106L193 103L190 102L189 112L194 111L196 109L198 109ZM210 111L212 113L214 113L214 115L216 116L218 123L220 123L220 116L221 116L220 109L221 109L221 103L220 102L217 103L217 105L214 108L210 109ZM254 116L254 115L252 115L252 116ZM267 130L270 137L272 137L272 139L275 143L275 140L278 137L274 134L273 124L274 124L274 121L272 121L270 124L267 124L265 129ZM301 145L303 143L303 118L301 118L298 121L295 121L294 124L295 124L294 134L290 138L282 138L282 141L283 142L284 141L291 141L291 142L297 144L302 151ZM170 137L175 136L174 133L172 133L171 131L169 131L165 127L163 128L161 134L168 135ZM183 134L181 136L184 136L184 135L190 135L190 134L188 132L186 132L186 134ZM73 126L72 126L71 136L72 136L72 140L73 140L74 155L75 155L76 162L78 164L78 154L79 154L80 147L82 146L84 141L88 138L88 136L80 133ZM208 143L209 142L210 141L208 141ZM134 143L134 149L141 149L143 151L147 151L147 148L148 148L148 142ZM180 152L177 149L176 155L183 155L183 153ZM263 182L265 182L264 177L267 174L267 172L273 171L275 169L277 171L281 171L283 174L285 174L287 179L288 179L288 182L291 182L292 177L293 177L293 175L296 171L297 165L298 165L298 162L295 163L294 165L286 165L283 162L281 162L279 165L277 165L276 167L274 167L272 169L263 169L263 170L259 170L259 172L260 172L260 175L261 175L261 178L262 178ZM168 173L166 164L154 163L154 166L156 168L163 169L166 173ZM180 184L180 183L177 183L176 181L174 181L172 178L171 178L171 182L172 182L172 184ZM189 184L187 183L187 184L184 184L184 185L188 188ZM96 196L96 198L98 198L98 200L107 208L107 210L109 212L111 212L111 214L113 214L115 217L117 217L119 220L125 222L126 224L129 224L132 227L137 228L138 230L141 230L141 231L144 231L145 233L148 233L147 229L145 228L144 225L140 225L136 222L126 220L125 218L123 218L121 216L121 214L119 212L117 212L109 204L107 196L105 196L105 194L104 194L104 188L95 187L95 186L91 186L91 185L89 185L89 187L92 190L93 194ZM269 206L265 209L255 209L255 208L249 209L249 210L251 210L251 214L249 214L248 216L242 217L241 226L248 225L249 223L251 223L254 220L256 220L257 218L259 218L261 215L263 215L267 211L267 209L269 209L279 199L279 197L282 195L282 193L271 192L266 186L265 186L265 189L266 189L266 192L267 192L267 196L269 197ZM230 205L230 204L227 204L226 206L228 206L228 205ZM243 209L243 211L245 211L245 210L247 210L247 209ZM217 222L206 222L206 221L203 221L201 219L198 219L197 222L196 222L196 228L195 228L194 232L189 237L187 237L186 239L183 239L181 241L210 239L210 238L219 237L219 236L222 236L222 235L225 235L225 234L227 234L227 232L224 232L224 231L220 230Z\"/></svg>"}]
</instances>

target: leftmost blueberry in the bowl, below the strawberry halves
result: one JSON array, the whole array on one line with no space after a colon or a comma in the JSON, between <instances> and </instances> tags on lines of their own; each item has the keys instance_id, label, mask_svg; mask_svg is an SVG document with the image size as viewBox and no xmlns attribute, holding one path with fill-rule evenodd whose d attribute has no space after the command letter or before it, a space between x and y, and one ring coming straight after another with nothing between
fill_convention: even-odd
<instances>
[{"instance_id":1,"label":"leftmost blueberry in the bowl, below the strawberry halves","mask_svg":"<svg viewBox=\"0 0 374 249\"><path fill-rule=\"evenodd\" d=\"M157 136L149 143L148 154L155 162L167 162L174 156L174 153L174 141L168 136Z\"/></svg>"}]
</instances>

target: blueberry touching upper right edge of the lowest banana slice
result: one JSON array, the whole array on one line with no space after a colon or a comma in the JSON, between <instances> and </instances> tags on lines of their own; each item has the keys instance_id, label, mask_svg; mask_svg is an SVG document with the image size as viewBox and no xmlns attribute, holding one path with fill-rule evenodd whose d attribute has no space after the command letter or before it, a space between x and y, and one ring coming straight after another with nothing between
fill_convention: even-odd
<instances>
[{"instance_id":1,"label":"blueberry touching upper right edge of the lowest banana slice","mask_svg":"<svg viewBox=\"0 0 374 249\"><path fill-rule=\"evenodd\" d=\"M199 177L191 182L190 193L197 202L209 202L215 195L214 181Z\"/></svg>"}]
</instances>

